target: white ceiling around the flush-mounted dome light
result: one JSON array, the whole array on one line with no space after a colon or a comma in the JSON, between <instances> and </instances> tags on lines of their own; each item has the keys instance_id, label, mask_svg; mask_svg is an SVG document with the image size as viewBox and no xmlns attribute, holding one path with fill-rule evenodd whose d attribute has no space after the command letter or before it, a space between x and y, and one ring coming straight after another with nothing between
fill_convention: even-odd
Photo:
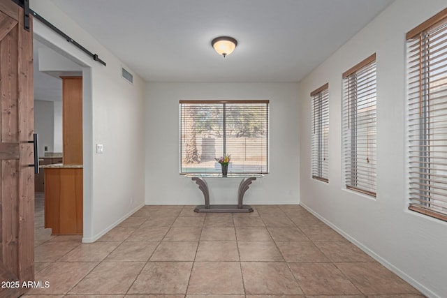
<instances>
[{"instance_id":1,"label":"white ceiling around the flush-mounted dome light","mask_svg":"<svg viewBox=\"0 0 447 298\"><path fill-rule=\"evenodd\" d=\"M131 70L156 82L298 82L393 2L52 1ZM211 46L217 36L236 38L235 52L219 57Z\"/></svg>"}]
</instances>

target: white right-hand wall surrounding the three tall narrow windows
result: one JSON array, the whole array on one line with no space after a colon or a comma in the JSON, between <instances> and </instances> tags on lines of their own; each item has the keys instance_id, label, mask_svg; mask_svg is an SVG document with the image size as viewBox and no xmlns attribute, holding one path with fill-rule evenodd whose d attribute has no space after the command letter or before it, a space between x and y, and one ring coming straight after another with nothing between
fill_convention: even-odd
<instances>
[{"instance_id":1,"label":"white right-hand wall surrounding the three tall narrow windows","mask_svg":"<svg viewBox=\"0 0 447 298\"><path fill-rule=\"evenodd\" d=\"M397 0L299 84L301 204L430 297L447 297L447 223L406 209L405 33L445 0ZM376 52L377 198L342 179L342 73ZM310 92L329 82L329 184L311 178Z\"/></svg>"}]
</instances>

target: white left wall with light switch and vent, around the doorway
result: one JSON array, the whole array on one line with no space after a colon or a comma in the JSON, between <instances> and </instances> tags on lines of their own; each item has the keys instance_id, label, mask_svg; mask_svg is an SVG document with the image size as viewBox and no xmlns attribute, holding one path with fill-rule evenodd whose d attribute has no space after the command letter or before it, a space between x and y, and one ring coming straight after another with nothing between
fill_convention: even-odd
<instances>
[{"instance_id":1,"label":"white left wall with light switch and vent, around the doorway","mask_svg":"<svg viewBox=\"0 0 447 298\"><path fill-rule=\"evenodd\" d=\"M107 63L103 66L34 20L34 37L76 64L83 76L84 237L91 242L144 204L144 82L121 77L122 61L50 0L32 9ZM129 69L129 68L128 68ZM96 144L103 154L94 152Z\"/></svg>"}]
</instances>

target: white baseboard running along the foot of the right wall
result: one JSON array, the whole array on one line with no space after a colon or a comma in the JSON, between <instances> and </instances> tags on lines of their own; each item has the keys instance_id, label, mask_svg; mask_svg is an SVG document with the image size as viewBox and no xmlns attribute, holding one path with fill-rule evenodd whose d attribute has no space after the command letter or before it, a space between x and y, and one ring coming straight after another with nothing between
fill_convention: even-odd
<instances>
[{"instance_id":1,"label":"white baseboard running along the foot of the right wall","mask_svg":"<svg viewBox=\"0 0 447 298\"><path fill-rule=\"evenodd\" d=\"M441 298L441 296L436 295L434 292L432 292L430 289L426 288L424 285L420 284L414 278L412 278L408 274L404 273L399 268L395 267L393 264L391 264L390 262L388 262L387 260L382 258L380 255L377 255L376 253L374 253L374 251L372 251L367 246L363 245L362 243L360 243L359 241L357 241L356 239L351 237L349 234L347 234L343 230L339 229L336 225L334 225L333 223L331 223L330 221L325 219L323 216L318 214L316 211L314 211L311 208L307 207L306 204L303 204L302 202L300 202L300 205L302 207L304 207L307 211L312 213L314 216L316 216L319 220L323 221L323 223L325 223L326 225L329 225L330 228L336 230L339 234L342 234L343 237L348 239L351 243L355 244L358 248L360 248L362 251L364 251L371 258L373 258L374 260L379 262L381 265L383 265L384 267L386 267L387 269L392 271L394 274L396 274L397 276L402 278L404 281L406 281L407 283L412 285L414 288L419 290L421 293L423 293L423 295L426 295L427 297Z\"/></svg>"}]
</instances>

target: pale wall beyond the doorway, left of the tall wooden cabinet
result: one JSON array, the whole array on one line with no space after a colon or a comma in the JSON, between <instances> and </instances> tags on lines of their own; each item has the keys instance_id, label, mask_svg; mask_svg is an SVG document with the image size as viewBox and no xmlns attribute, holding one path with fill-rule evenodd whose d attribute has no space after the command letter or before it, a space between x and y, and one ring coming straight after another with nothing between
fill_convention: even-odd
<instances>
[{"instance_id":1,"label":"pale wall beyond the doorway, left of the tall wooden cabinet","mask_svg":"<svg viewBox=\"0 0 447 298\"><path fill-rule=\"evenodd\" d=\"M38 153L44 156L45 146L48 152L54 151L54 102L34 100L34 132L38 134Z\"/></svg>"}]
</instances>

